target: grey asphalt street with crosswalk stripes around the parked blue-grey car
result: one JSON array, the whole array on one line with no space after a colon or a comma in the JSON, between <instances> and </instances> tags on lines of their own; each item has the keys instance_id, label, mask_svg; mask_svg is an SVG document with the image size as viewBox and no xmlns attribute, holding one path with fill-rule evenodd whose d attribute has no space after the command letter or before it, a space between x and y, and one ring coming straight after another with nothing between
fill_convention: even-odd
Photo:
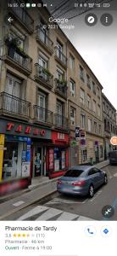
<instances>
[{"instance_id":1,"label":"grey asphalt street with crosswalk stripes around the parked blue-grey car","mask_svg":"<svg viewBox=\"0 0 117 256\"><path fill-rule=\"evenodd\" d=\"M7 220L103 220L102 208L115 206L114 216L117 220L117 166L103 168L109 177L109 183L98 189L92 199L59 195L58 192L25 207L5 218Z\"/></svg>"}]
</instances>

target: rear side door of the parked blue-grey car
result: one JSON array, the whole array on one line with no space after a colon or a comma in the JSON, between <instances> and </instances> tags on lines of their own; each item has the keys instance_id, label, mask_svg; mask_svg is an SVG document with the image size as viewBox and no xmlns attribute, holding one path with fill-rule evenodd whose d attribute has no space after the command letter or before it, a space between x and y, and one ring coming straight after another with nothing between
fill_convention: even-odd
<instances>
[{"instance_id":1,"label":"rear side door of the parked blue-grey car","mask_svg":"<svg viewBox=\"0 0 117 256\"><path fill-rule=\"evenodd\" d=\"M92 183L94 186L94 189L97 189L98 173L96 172L94 167L92 167L88 172L88 183L89 185Z\"/></svg>"}]
</instances>

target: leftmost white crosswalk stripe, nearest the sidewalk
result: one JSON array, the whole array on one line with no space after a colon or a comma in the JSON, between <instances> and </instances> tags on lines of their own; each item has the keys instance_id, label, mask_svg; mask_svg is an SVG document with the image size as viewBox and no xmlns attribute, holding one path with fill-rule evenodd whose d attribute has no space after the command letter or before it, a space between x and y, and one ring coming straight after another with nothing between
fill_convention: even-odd
<instances>
[{"instance_id":1,"label":"leftmost white crosswalk stripe, nearest the sidewalk","mask_svg":"<svg viewBox=\"0 0 117 256\"><path fill-rule=\"evenodd\" d=\"M37 213L43 212L47 209L48 209L48 207L42 207L42 206L35 207L35 208L31 209L31 211L26 212L24 215L20 216L20 218L18 218L17 220L24 220L25 218L30 218L31 216L33 216Z\"/></svg>"}]
</instances>

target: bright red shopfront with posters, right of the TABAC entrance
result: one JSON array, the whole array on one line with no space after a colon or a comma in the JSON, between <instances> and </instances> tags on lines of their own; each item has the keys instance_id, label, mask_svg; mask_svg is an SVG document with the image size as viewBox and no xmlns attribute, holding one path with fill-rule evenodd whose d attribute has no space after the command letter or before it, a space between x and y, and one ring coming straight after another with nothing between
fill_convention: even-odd
<instances>
[{"instance_id":1,"label":"bright red shopfront with posters, right of the TABAC entrance","mask_svg":"<svg viewBox=\"0 0 117 256\"><path fill-rule=\"evenodd\" d=\"M49 178L64 175L69 166L69 135L52 131L51 147L47 148L47 173Z\"/></svg>"}]
</instances>

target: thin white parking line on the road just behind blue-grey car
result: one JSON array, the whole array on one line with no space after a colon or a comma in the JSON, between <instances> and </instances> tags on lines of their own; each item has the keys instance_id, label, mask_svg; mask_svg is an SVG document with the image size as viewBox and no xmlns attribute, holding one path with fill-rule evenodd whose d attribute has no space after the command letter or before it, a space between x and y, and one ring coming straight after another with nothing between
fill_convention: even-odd
<instances>
[{"instance_id":1,"label":"thin white parking line on the road just behind blue-grey car","mask_svg":"<svg viewBox=\"0 0 117 256\"><path fill-rule=\"evenodd\" d=\"M47 201L47 203L45 205L51 205L51 204L84 204L86 203L86 201L88 201L88 199L84 200L84 201L73 201L73 200L67 200L67 199L63 199L63 198L53 198L50 201Z\"/></svg>"}]
</instances>

